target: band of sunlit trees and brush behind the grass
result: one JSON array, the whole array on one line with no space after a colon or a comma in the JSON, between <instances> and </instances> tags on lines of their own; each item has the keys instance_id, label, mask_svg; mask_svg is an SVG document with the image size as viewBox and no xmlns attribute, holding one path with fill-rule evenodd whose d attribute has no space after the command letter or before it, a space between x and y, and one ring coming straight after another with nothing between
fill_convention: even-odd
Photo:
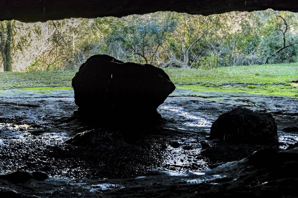
<instances>
[{"instance_id":1,"label":"band of sunlit trees and brush behind the grass","mask_svg":"<svg viewBox=\"0 0 298 198\"><path fill-rule=\"evenodd\" d=\"M11 42L7 42L9 35ZM102 53L159 67L288 63L298 61L298 13L271 9L209 16L155 12L45 23L2 21L2 69L9 44L13 71L73 70L89 56Z\"/></svg>"}]
</instances>

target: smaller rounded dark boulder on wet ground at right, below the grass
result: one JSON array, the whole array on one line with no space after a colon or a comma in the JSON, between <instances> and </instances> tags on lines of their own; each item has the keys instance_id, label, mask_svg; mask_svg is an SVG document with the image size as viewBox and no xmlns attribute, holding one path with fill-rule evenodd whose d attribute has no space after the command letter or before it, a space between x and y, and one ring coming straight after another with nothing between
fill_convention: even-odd
<instances>
[{"instance_id":1,"label":"smaller rounded dark boulder on wet ground at right, below the grass","mask_svg":"<svg viewBox=\"0 0 298 198\"><path fill-rule=\"evenodd\" d=\"M211 126L210 136L226 142L278 144L277 125L273 116L241 107L220 115Z\"/></svg>"}]
</instances>

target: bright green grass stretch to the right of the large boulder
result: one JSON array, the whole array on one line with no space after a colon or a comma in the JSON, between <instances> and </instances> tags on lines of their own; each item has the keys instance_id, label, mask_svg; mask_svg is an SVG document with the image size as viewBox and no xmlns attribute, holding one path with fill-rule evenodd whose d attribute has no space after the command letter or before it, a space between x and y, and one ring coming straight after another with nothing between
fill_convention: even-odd
<instances>
[{"instance_id":1,"label":"bright green grass stretch to the right of the large boulder","mask_svg":"<svg viewBox=\"0 0 298 198\"><path fill-rule=\"evenodd\" d=\"M298 98L298 63L164 70L180 89Z\"/></svg>"}]
</instances>

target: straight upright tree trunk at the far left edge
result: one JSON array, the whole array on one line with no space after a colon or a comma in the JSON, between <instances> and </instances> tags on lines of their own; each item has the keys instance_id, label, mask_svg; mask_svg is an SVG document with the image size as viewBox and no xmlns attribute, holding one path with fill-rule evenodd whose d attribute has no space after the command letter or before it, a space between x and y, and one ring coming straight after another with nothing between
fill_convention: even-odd
<instances>
[{"instance_id":1,"label":"straight upright tree trunk at the far left edge","mask_svg":"<svg viewBox=\"0 0 298 198\"><path fill-rule=\"evenodd\" d=\"M11 52L11 21L6 23L6 42L4 48L4 71L11 71L10 52Z\"/></svg>"}]
</instances>

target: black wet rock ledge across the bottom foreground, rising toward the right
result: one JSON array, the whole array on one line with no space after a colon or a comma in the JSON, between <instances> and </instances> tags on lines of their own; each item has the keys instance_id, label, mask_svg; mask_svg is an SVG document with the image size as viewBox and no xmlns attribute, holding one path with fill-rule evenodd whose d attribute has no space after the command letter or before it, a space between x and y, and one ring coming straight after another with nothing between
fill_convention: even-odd
<instances>
[{"instance_id":1,"label":"black wet rock ledge across the bottom foreground, rising toward the right","mask_svg":"<svg viewBox=\"0 0 298 198\"><path fill-rule=\"evenodd\" d=\"M263 164L266 158L271 163ZM261 159L261 160L260 160ZM50 178L21 184L0 180L0 195L32 197L223 197L295 198L298 196L298 148L264 149L240 160L200 172L160 172L131 179L75 180Z\"/></svg>"}]
</instances>

